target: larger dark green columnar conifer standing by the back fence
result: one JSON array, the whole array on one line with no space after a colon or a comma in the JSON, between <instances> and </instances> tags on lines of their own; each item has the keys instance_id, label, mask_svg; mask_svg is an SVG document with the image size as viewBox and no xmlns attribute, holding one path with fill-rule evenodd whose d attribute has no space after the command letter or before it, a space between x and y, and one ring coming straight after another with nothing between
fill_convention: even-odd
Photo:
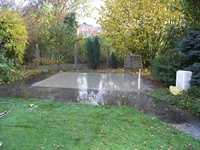
<instances>
[{"instance_id":1,"label":"larger dark green columnar conifer standing by the back fence","mask_svg":"<svg viewBox=\"0 0 200 150\"><path fill-rule=\"evenodd\" d=\"M100 44L97 36L94 38L87 38L86 49L90 67L92 69L98 68L100 64Z\"/></svg>"}]
</instances>

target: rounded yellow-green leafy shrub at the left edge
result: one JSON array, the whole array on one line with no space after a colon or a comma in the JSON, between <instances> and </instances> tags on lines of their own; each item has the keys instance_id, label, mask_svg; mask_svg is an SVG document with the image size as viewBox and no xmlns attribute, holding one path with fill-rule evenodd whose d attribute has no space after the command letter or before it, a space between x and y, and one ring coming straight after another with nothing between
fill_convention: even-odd
<instances>
[{"instance_id":1,"label":"rounded yellow-green leafy shrub at the left edge","mask_svg":"<svg viewBox=\"0 0 200 150\"><path fill-rule=\"evenodd\" d=\"M27 32L22 18L15 12L0 11L0 49L5 57L21 63L27 43Z\"/></svg>"}]
</instances>

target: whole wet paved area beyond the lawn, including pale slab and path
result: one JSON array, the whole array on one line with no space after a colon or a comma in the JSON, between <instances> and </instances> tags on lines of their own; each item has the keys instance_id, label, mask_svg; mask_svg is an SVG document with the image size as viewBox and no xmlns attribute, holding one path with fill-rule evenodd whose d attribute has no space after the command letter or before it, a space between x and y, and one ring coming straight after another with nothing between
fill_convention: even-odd
<instances>
[{"instance_id":1,"label":"whole wet paved area beyond the lawn, including pale slab and path","mask_svg":"<svg viewBox=\"0 0 200 150\"><path fill-rule=\"evenodd\" d=\"M141 80L138 91L137 76L99 73L42 73L35 77L0 86L0 97L16 97L81 103L134 107L144 114L200 139L200 118L173 107L168 102L146 96L152 90Z\"/></svg>"}]
</instances>

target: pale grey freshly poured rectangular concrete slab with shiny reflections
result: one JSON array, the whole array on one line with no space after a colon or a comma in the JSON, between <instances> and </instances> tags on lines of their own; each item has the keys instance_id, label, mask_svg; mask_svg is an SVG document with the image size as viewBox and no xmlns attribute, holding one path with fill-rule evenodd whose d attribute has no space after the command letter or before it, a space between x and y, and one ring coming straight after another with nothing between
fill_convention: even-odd
<instances>
[{"instance_id":1,"label":"pale grey freshly poured rectangular concrete slab with shiny reflections","mask_svg":"<svg viewBox=\"0 0 200 150\"><path fill-rule=\"evenodd\" d=\"M62 72L43 81L37 82L32 86L79 90L93 89L99 91L138 91L137 76L129 74Z\"/></svg>"}]
</instances>

